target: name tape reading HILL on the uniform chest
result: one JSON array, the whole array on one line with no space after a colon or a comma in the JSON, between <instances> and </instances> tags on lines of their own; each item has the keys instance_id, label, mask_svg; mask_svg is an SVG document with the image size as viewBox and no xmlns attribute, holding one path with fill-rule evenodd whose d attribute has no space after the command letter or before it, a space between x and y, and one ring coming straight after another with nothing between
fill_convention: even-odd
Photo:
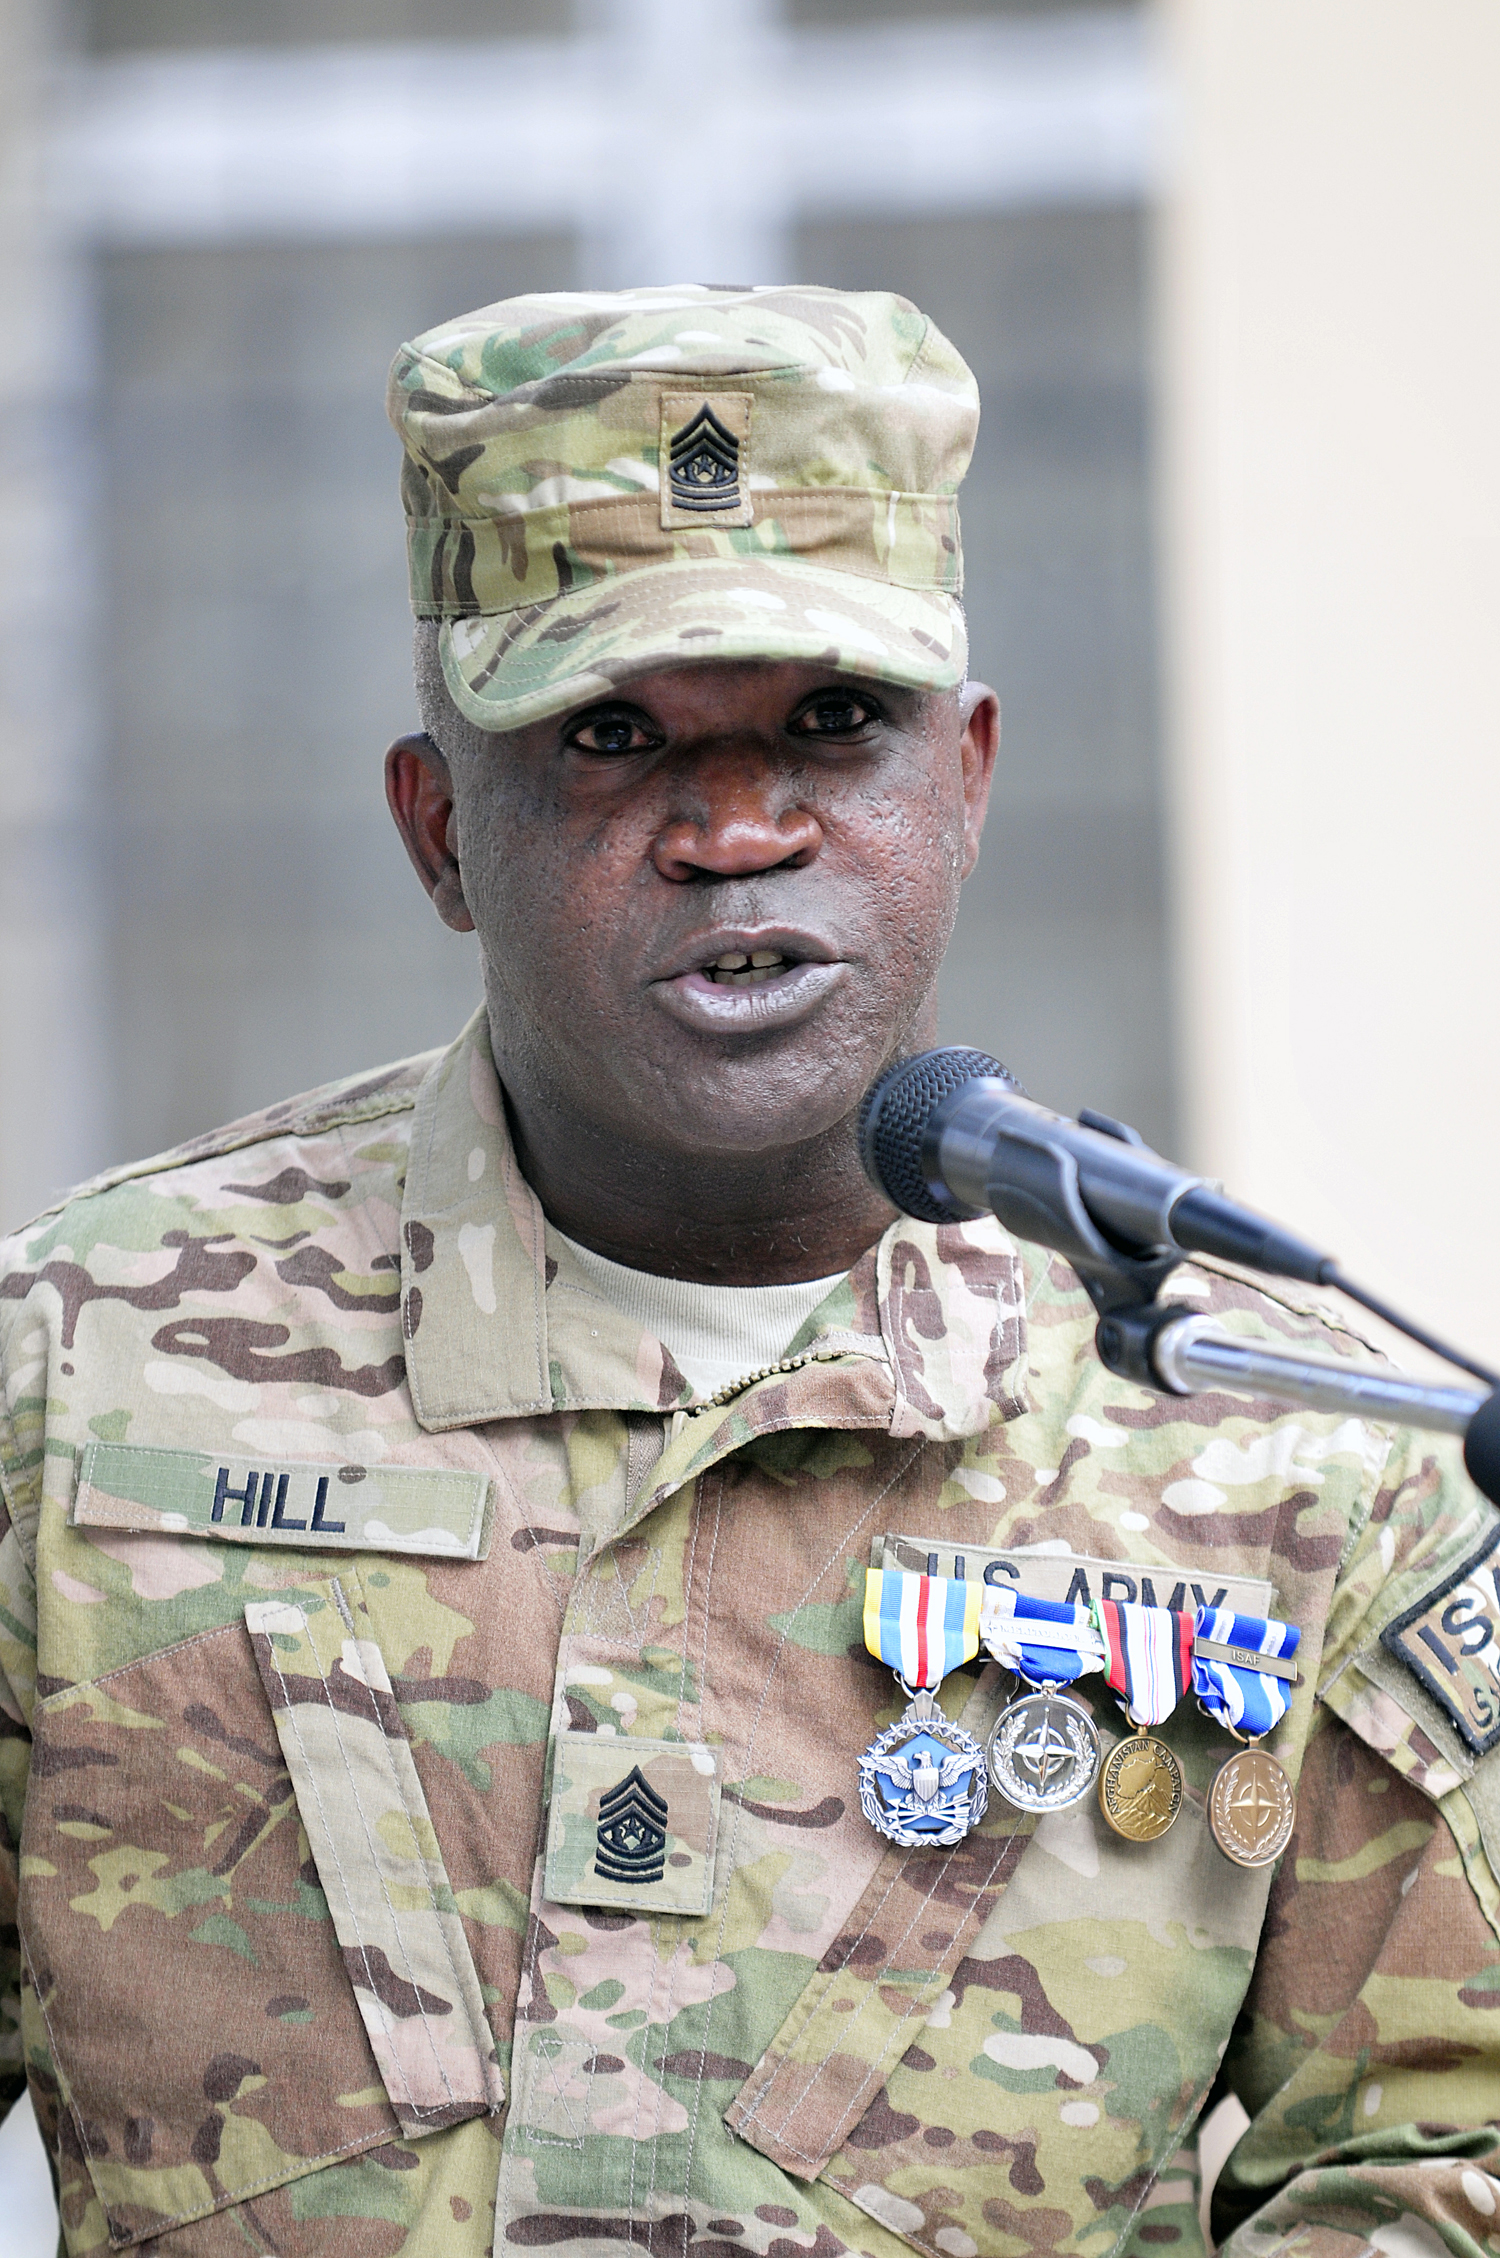
<instances>
[{"instance_id":1,"label":"name tape reading HILL on the uniform chest","mask_svg":"<svg viewBox=\"0 0 1500 2258\"><path fill-rule=\"evenodd\" d=\"M90 1443L70 1520L314 1551L483 1558L488 1474Z\"/></svg>"}]
</instances>

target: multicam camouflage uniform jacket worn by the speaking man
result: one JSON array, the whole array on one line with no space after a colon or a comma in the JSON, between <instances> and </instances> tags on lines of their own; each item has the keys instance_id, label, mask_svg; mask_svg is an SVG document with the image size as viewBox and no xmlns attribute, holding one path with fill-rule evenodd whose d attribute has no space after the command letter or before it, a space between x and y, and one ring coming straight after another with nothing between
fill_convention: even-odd
<instances>
[{"instance_id":1,"label":"multicam camouflage uniform jacket worn by the speaking man","mask_svg":"<svg viewBox=\"0 0 1500 2258\"><path fill-rule=\"evenodd\" d=\"M1500 2249L1500 1759L1380 1642L1493 1515L1423 1438L1123 1384L989 1222L897 1222L694 1400L547 1228L483 1021L45 1215L0 1344L5 2073L70 2251L1186 2253L1224 2089L1245 2258ZM1211 1840L1191 1707L1154 1845L996 1797L883 1843L899 1540L1267 1587L1274 1879Z\"/></svg>"}]
</instances>

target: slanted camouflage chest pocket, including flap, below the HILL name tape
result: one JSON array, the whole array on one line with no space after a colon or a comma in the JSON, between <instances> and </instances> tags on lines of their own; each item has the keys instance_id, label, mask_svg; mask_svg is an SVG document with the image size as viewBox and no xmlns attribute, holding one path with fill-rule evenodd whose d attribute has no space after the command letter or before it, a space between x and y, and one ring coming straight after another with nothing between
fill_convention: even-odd
<instances>
[{"instance_id":1,"label":"slanted camouflage chest pocket, including flap, below the HILL name tape","mask_svg":"<svg viewBox=\"0 0 1500 2258\"><path fill-rule=\"evenodd\" d=\"M502 2104L352 1569L41 1703L32 1782L29 1978L115 2249Z\"/></svg>"}]
</instances>

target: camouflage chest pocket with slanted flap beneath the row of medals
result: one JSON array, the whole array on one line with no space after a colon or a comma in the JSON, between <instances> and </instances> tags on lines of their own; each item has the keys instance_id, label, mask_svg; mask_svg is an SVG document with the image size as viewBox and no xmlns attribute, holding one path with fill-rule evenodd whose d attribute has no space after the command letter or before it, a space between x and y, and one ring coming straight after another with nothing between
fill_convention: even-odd
<instances>
[{"instance_id":1,"label":"camouflage chest pocket with slanted flap beneath the row of medals","mask_svg":"<svg viewBox=\"0 0 1500 2258\"><path fill-rule=\"evenodd\" d=\"M962 1723L983 1732L978 1705ZM1116 1739L1098 1703L1096 1723ZM1152 2183L1215 2077L1272 1874L1209 1833L1222 1732L1184 1712L1172 1745L1188 1795L1159 1843L1091 1795L1035 1831L992 1800L956 1849L888 1854L730 2127L928 2258L1109 2251L1175 2202ZM1152 2208L1154 2238L1191 2220Z\"/></svg>"}]
</instances>

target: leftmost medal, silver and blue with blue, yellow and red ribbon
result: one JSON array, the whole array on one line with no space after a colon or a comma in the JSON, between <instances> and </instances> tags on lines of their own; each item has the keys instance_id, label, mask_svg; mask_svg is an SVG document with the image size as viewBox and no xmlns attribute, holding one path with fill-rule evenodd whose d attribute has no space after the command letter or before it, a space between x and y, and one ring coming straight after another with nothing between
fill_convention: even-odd
<instances>
[{"instance_id":1,"label":"leftmost medal, silver and blue with blue, yellow and red ribbon","mask_svg":"<svg viewBox=\"0 0 1500 2258\"><path fill-rule=\"evenodd\" d=\"M865 1569L865 1646L897 1675L906 1712L858 1759L858 1806L908 1849L962 1843L989 1800L985 1752L933 1700L978 1653L978 1583Z\"/></svg>"}]
</instances>

